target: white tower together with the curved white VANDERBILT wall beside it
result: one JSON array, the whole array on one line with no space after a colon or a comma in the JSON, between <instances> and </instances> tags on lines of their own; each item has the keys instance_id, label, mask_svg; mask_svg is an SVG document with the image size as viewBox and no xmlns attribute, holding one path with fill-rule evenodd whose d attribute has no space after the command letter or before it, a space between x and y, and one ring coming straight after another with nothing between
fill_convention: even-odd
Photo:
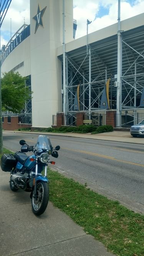
<instances>
[{"instance_id":1,"label":"white tower together with the curved white VANDERBILT wall beside it","mask_svg":"<svg viewBox=\"0 0 144 256\"><path fill-rule=\"evenodd\" d=\"M30 36L21 42L17 35L3 54L1 73L23 62L15 71L22 76L31 75L32 127L50 127L53 115L62 111L62 71L57 48L63 45L63 0L30 1ZM73 0L65 0L65 42L72 40Z\"/></svg>"}]
</instances>

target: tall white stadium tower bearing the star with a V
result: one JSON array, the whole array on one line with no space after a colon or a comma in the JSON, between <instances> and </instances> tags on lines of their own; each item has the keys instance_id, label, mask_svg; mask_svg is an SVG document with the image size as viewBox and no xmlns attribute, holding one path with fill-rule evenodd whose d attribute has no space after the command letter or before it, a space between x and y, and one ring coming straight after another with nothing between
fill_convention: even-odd
<instances>
[{"instance_id":1,"label":"tall white stadium tower bearing the star with a V","mask_svg":"<svg viewBox=\"0 0 144 256\"><path fill-rule=\"evenodd\" d=\"M65 15L68 33L67 42L73 39L73 1L65 1ZM43 27L36 29L38 11L43 12ZM71 7L71 8L70 8ZM69 12L67 12L67 10ZM71 13L70 13L71 12ZM61 102L61 62L57 58L57 48L63 42L63 1L30 1L30 55L33 127L50 127L53 115L62 110ZM71 33L70 33L71 32Z\"/></svg>"}]
</instances>

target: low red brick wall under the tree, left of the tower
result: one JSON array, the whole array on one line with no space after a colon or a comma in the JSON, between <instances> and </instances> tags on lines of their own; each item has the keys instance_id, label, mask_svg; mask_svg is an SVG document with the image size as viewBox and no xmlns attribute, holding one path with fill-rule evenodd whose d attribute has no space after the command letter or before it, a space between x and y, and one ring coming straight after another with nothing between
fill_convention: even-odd
<instances>
[{"instance_id":1,"label":"low red brick wall under the tree, left of the tower","mask_svg":"<svg viewBox=\"0 0 144 256\"><path fill-rule=\"evenodd\" d=\"M11 123L8 123L8 118L7 116L4 116L4 122L2 123L3 129L7 131L13 131L13 130L18 130L21 127L22 128L27 128L30 127L30 124L21 124L18 123L18 116L11 116Z\"/></svg>"}]
</instances>

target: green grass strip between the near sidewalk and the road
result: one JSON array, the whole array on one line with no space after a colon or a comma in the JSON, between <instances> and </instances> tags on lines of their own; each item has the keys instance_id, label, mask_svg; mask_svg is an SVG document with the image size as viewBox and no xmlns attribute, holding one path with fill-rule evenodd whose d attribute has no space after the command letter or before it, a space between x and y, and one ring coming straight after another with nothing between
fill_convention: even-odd
<instances>
[{"instance_id":1,"label":"green grass strip between the near sidewalk and the road","mask_svg":"<svg viewBox=\"0 0 144 256\"><path fill-rule=\"evenodd\" d=\"M4 153L10 153L4 149ZM118 256L144 256L144 216L48 170L50 201Z\"/></svg>"}]
</instances>

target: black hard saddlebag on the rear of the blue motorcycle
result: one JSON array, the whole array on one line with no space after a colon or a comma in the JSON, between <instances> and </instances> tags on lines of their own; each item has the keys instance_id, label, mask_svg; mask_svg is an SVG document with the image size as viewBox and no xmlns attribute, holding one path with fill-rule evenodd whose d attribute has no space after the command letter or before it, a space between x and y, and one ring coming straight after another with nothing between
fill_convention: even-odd
<instances>
[{"instance_id":1,"label":"black hard saddlebag on the rear of the blue motorcycle","mask_svg":"<svg viewBox=\"0 0 144 256\"><path fill-rule=\"evenodd\" d=\"M0 167L2 171L11 171L16 166L16 160L14 156L10 154L3 154L0 159Z\"/></svg>"}]
</instances>

